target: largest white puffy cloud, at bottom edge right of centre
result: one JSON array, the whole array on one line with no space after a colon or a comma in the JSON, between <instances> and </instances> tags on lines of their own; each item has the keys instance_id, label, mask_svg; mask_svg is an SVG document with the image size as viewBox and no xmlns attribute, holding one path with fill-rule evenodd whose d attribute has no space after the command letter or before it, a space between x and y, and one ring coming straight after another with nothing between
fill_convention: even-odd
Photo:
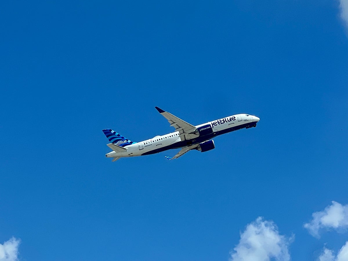
<instances>
[{"instance_id":1,"label":"largest white puffy cloud, at bottom edge right of centre","mask_svg":"<svg viewBox=\"0 0 348 261\"><path fill-rule=\"evenodd\" d=\"M279 235L274 222L258 217L240 235L238 245L230 252L230 261L289 261L288 245L293 238Z\"/></svg>"}]
</instances>

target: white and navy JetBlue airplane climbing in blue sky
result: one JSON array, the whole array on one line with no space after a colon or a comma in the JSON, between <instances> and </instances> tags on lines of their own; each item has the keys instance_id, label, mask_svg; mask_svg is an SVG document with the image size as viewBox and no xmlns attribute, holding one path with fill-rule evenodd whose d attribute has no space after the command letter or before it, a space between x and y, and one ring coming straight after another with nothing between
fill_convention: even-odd
<instances>
[{"instance_id":1,"label":"white and navy JetBlue airplane climbing in blue sky","mask_svg":"<svg viewBox=\"0 0 348 261\"><path fill-rule=\"evenodd\" d=\"M260 120L260 118L250 114L236 114L195 126L157 106L155 108L175 128L175 132L155 136L141 142L133 142L112 129L103 129L103 133L110 141L107 146L113 150L105 156L116 161L123 157L144 156L169 149L181 149L173 157L165 156L169 160L177 159L190 150L200 152L212 150L215 148L212 140L215 136L238 129L256 127L256 123Z\"/></svg>"}]
</instances>

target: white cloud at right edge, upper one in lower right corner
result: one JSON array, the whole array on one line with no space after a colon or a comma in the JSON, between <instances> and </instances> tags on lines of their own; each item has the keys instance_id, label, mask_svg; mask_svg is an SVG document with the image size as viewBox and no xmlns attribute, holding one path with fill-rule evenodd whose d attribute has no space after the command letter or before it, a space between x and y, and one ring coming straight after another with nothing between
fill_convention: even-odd
<instances>
[{"instance_id":1,"label":"white cloud at right edge, upper one in lower right corner","mask_svg":"<svg viewBox=\"0 0 348 261\"><path fill-rule=\"evenodd\" d=\"M332 201L332 205L325 207L324 211L314 212L312 217L304 227L312 236L319 238L319 230L322 228L338 231L348 228L348 205Z\"/></svg>"}]
</instances>

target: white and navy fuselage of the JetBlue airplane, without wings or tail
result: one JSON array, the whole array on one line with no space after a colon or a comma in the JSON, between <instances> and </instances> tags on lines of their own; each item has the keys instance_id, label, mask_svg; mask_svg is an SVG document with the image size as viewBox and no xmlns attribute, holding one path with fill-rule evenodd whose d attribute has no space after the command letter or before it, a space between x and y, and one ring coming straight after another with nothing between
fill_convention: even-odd
<instances>
[{"instance_id":1,"label":"white and navy fuselage of the JetBlue airplane, without wings or tail","mask_svg":"<svg viewBox=\"0 0 348 261\"><path fill-rule=\"evenodd\" d=\"M256 123L259 120L258 117L249 114L236 114L195 126L197 130L202 126L207 126L206 128L211 126L212 132L207 135L197 135L198 132L196 134L191 133L183 140L182 135L180 136L180 132L176 131L127 145L124 147L126 151L112 151L107 153L105 156L108 158L134 157L155 154L169 149L178 149L187 146L190 147L234 130L256 127ZM204 132L204 128L202 129ZM117 143L115 144L118 145Z\"/></svg>"}]
</instances>

